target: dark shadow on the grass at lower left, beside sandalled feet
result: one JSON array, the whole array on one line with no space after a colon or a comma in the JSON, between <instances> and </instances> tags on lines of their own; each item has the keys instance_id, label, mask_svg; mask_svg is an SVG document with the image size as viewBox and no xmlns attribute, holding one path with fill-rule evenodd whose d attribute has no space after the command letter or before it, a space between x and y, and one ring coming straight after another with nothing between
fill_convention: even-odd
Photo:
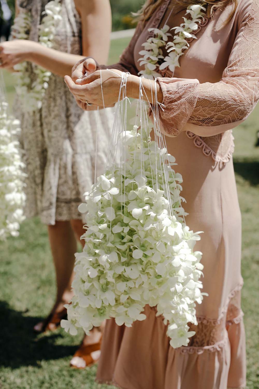
<instances>
[{"instance_id":1,"label":"dark shadow on the grass at lower left, beside sandalled feet","mask_svg":"<svg viewBox=\"0 0 259 389\"><path fill-rule=\"evenodd\" d=\"M33 326L41 317L26 316L0 301L2 323L0 328L0 366L12 369L20 366L38 366L40 361L53 360L73 355L76 346L57 345L59 333L50 333L39 337L33 332Z\"/></svg>"}]
</instances>

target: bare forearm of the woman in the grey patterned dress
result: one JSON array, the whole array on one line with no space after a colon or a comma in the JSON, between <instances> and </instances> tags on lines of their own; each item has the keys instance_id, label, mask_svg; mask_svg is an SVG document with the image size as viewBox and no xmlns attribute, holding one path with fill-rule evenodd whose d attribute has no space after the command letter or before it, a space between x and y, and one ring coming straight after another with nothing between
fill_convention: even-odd
<instances>
[{"instance_id":1,"label":"bare forearm of the woman in the grey patterned dress","mask_svg":"<svg viewBox=\"0 0 259 389\"><path fill-rule=\"evenodd\" d=\"M66 74L71 74L72 67L81 58L84 57L50 49L38 42L31 42L31 49L28 50L26 60L64 77Z\"/></svg>"}]
</instances>

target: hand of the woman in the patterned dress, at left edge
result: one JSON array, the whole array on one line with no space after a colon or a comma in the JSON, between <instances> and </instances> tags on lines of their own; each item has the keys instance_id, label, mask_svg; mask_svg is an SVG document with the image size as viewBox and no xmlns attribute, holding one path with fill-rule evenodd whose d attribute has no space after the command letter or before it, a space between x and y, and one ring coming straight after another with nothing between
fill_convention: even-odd
<instances>
[{"instance_id":1,"label":"hand of the woman in the patterned dress, at left edge","mask_svg":"<svg viewBox=\"0 0 259 389\"><path fill-rule=\"evenodd\" d=\"M29 61L36 42L16 39L0 43L0 68L13 68L23 61Z\"/></svg>"}]
</instances>

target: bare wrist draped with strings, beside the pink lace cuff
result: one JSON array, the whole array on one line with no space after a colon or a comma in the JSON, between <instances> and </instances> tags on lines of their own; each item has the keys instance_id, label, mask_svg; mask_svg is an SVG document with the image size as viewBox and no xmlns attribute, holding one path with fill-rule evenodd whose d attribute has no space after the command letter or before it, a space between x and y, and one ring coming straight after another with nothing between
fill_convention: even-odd
<instances>
[{"instance_id":1,"label":"bare wrist draped with strings, beside the pink lace cuff","mask_svg":"<svg viewBox=\"0 0 259 389\"><path fill-rule=\"evenodd\" d=\"M139 82L140 77L136 75L130 75L127 81L127 88L129 90L129 97L139 98ZM150 104L155 102L155 91L157 91L157 100L159 103L163 101L163 93L158 82L148 80L141 77L141 83L143 86L143 98Z\"/></svg>"}]
</instances>

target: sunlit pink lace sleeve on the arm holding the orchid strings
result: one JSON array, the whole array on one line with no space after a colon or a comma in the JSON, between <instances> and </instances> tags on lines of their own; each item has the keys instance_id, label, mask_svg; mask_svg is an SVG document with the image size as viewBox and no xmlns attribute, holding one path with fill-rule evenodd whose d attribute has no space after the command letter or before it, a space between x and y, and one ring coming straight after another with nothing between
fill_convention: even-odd
<instances>
[{"instance_id":1,"label":"sunlit pink lace sleeve on the arm holding the orchid strings","mask_svg":"<svg viewBox=\"0 0 259 389\"><path fill-rule=\"evenodd\" d=\"M259 100L259 0L254 0L236 36L228 66L214 84L159 78L162 130L171 137L190 130L208 137L234 128Z\"/></svg>"}]
</instances>

